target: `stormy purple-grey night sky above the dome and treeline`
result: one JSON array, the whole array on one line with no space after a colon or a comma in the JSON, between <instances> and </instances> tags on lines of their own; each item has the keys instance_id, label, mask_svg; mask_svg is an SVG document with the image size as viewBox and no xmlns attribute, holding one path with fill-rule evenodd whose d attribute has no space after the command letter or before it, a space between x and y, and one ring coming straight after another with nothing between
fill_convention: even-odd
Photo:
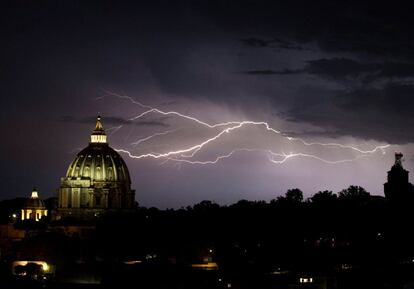
<instances>
[{"instance_id":1,"label":"stormy purple-grey night sky above the dome and treeline","mask_svg":"<svg viewBox=\"0 0 414 289\"><path fill-rule=\"evenodd\" d=\"M55 195L98 113L144 206L383 195L394 152L414 173L414 18L360 2L3 1L0 199Z\"/></svg>"}]
</instances>

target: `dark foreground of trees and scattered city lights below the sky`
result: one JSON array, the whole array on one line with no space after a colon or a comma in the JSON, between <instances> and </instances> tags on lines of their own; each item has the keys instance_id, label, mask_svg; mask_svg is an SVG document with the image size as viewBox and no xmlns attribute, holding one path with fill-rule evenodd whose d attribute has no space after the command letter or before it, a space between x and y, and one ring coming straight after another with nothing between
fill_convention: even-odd
<instances>
[{"instance_id":1,"label":"dark foreground of trees and scattered city lights below the sky","mask_svg":"<svg viewBox=\"0 0 414 289\"><path fill-rule=\"evenodd\" d=\"M294 189L269 203L9 223L0 288L414 288L412 212L414 198L351 186L306 201Z\"/></svg>"}]
</instances>

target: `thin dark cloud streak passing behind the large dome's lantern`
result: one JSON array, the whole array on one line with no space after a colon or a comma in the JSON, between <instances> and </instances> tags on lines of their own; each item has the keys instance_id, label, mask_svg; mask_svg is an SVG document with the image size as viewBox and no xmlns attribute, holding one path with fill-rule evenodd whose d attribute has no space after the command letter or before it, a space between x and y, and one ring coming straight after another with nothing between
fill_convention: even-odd
<instances>
[{"instance_id":1,"label":"thin dark cloud streak passing behind the large dome's lantern","mask_svg":"<svg viewBox=\"0 0 414 289\"><path fill-rule=\"evenodd\" d=\"M105 124L108 125L135 125L135 126L159 126L159 127L169 127L169 124L165 122L167 118L157 118L154 120L130 120L121 117L114 116L105 116ZM68 123L82 123L82 124L92 124L96 120L96 117L74 117L74 116L62 116L60 121Z\"/></svg>"}]
</instances>

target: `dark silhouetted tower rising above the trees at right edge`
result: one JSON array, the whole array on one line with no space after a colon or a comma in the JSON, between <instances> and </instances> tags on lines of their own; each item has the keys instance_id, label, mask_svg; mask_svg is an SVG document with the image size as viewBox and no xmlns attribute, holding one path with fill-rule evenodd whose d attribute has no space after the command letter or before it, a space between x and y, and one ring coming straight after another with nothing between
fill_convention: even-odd
<instances>
[{"instance_id":1,"label":"dark silhouetted tower rising above the trees at right edge","mask_svg":"<svg viewBox=\"0 0 414 289\"><path fill-rule=\"evenodd\" d=\"M409 182L409 172L402 166L402 153L395 153L395 163L388 171L384 184L385 197L390 201L400 202L414 199L414 187Z\"/></svg>"}]
</instances>

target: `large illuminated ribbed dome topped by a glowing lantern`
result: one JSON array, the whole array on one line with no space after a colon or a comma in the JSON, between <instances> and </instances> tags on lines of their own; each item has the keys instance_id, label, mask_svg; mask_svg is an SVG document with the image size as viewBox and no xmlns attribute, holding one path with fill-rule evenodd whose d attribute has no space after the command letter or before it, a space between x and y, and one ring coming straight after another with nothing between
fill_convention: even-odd
<instances>
[{"instance_id":1,"label":"large illuminated ribbed dome topped by a glowing lantern","mask_svg":"<svg viewBox=\"0 0 414 289\"><path fill-rule=\"evenodd\" d=\"M56 218L90 218L135 204L128 168L107 143L98 116L89 145L79 152L61 179Z\"/></svg>"}]
</instances>

